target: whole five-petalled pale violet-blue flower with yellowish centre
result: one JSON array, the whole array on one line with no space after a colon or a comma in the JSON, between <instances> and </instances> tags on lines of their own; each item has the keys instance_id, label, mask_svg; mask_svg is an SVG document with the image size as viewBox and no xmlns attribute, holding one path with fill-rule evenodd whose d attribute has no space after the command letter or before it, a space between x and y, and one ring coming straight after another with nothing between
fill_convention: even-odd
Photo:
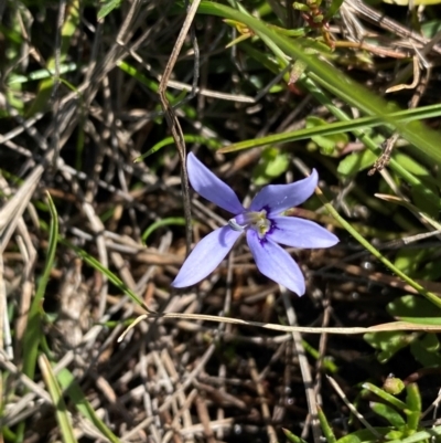
<instances>
[{"instance_id":1,"label":"whole five-petalled pale violet-blue flower with yellowish centre","mask_svg":"<svg viewBox=\"0 0 441 443\"><path fill-rule=\"evenodd\" d=\"M292 247L330 247L338 242L334 234L312 221L283 215L284 211L312 196L319 180L315 169L311 176L294 183L266 186L248 209L240 204L233 189L193 154L187 157L187 169L192 188L234 217L227 225L216 229L196 244L172 286L186 287L201 282L245 233L258 270L268 278L303 295L303 274L278 243Z\"/></svg>"}]
</instances>

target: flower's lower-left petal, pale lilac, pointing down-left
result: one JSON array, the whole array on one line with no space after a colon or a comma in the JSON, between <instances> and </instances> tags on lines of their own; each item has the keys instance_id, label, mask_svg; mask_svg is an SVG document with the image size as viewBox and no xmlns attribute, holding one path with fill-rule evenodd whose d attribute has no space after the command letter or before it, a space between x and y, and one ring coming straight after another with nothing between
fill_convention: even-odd
<instances>
[{"instance_id":1,"label":"flower's lower-left petal, pale lilac, pointing down-left","mask_svg":"<svg viewBox=\"0 0 441 443\"><path fill-rule=\"evenodd\" d=\"M186 287L205 278L224 260L240 234L223 226L204 236L186 257L172 286Z\"/></svg>"}]
</instances>

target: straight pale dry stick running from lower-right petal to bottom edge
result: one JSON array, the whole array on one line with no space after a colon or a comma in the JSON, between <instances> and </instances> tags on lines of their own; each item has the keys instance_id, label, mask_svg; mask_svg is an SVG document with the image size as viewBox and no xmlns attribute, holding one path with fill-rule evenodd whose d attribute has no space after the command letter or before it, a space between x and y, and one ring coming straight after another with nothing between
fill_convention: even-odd
<instances>
[{"instance_id":1,"label":"straight pale dry stick running from lower-right petal to bottom edge","mask_svg":"<svg viewBox=\"0 0 441 443\"><path fill-rule=\"evenodd\" d=\"M280 292L282 294L284 308L287 309L288 323L290 326L294 326L294 325L297 325L297 318L295 318L294 308L292 307L292 304L291 304L290 295L289 295L288 291L282 286L280 286ZM304 354L304 348L302 345L302 336L300 335L300 333L293 331L292 339L294 340L295 351L297 351L297 356L298 356L299 365L300 365L300 371L302 372L304 391L305 391L306 401L308 401L308 409L309 409L310 416L311 416L312 434L314 436L314 442L320 443L321 439L322 439L322 431L321 431L320 424L319 424L316 399L315 399L315 393L314 393L314 389L313 389L313 381L312 381L312 377L311 377L310 366L308 363L308 359ZM302 433L302 439L304 439L303 433Z\"/></svg>"}]
</instances>

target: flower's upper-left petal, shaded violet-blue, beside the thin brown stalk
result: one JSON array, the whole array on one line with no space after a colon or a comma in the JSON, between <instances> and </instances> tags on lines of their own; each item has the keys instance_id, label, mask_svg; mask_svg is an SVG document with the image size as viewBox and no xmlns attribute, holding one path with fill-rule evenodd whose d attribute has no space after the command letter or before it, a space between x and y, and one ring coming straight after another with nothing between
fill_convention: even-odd
<instances>
[{"instance_id":1,"label":"flower's upper-left petal, shaded violet-blue, beside the thin brown stalk","mask_svg":"<svg viewBox=\"0 0 441 443\"><path fill-rule=\"evenodd\" d=\"M190 183L198 194L234 214L244 211L235 191L197 160L193 152L189 154L186 166Z\"/></svg>"}]
</instances>

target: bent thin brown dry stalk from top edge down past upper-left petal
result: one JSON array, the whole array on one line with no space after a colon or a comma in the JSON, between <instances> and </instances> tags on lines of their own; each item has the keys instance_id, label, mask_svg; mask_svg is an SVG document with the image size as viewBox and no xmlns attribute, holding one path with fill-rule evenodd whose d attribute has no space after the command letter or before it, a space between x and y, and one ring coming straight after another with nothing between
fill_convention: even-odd
<instances>
[{"instance_id":1,"label":"bent thin brown dry stalk from top edge down past upper-left petal","mask_svg":"<svg viewBox=\"0 0 441 443\"><path fill-rule=\"evenodd\" d=\"M166 123L172 133L174 143L176 144L178 154L179 154L180 160L181 160L181 182L182 182L182 194L184 198L184 217L185 217L185 222L186 222L185 240L186 240L186 253L187 254L190 253L190 249L192 245L192 224L191 224L192 212L191 212L191 203L190 203L189 176L187 176L186 166L185 166L185 157L186 157L185 141L184 141L184 136L182 134L181 125L178 120L178 117L176 117L173 108L170 106L170 103L165 95L165 91L166 91L166 85L169 83L173 67L176 63L179 53L181 52L181 49L182 49L182 45L184 44L186 34L189 33L189 30L190 30L190 27L192 25L194 15L196 14L200 2L201 2L201 0L194 0L192 6L189 9L189 13L185 18L184 24L182 25L181 32L178 36L176 44L174 45L173 51L170 55L169 62L166 63L164 73L161 78L161 83L159 84L159 91L158 91L160 99L161 99L161 106L165 114L165 119L166 119Z\"/></svg>"}]
</instances>

